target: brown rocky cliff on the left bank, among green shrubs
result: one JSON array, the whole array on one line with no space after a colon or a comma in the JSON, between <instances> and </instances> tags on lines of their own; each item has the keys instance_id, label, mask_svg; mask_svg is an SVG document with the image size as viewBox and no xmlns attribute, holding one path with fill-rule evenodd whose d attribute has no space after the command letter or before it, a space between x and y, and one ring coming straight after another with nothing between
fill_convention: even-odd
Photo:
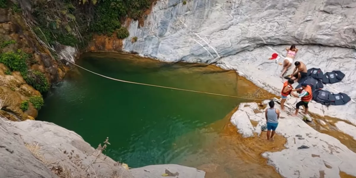
<instances>
[{"instance_id":1,"label":"brown rocky cliff on the left bank, among green shrubs","mask_svg":"<svg viewBox=\"0 0 356 178\"><path fill-rule=\"evenodd\" d=\"M27 7L31 8L30 5L23 8ZM8 44L5 45L5 43ZM44 74L44 80L47 80L49 85L61 81L69 69L66 65L59 62L59 60L55 59L48 49L40 45L36 37L26 26L21 13L15 13L11 8L0 8L0 45L0 55L1 53L11 53L18 50L28 55L27 64L25 64L28 65L27 70L39 71ZM75 52L73 53L67 48L62 47L62 49L58 50L58 52L61 51L59 54L63 54L63 56L58 56L58 59L66 58L74 60L77 51L74 50ZM68 51L70 54L66 55ZM31 85L28 85L19 71L9 71L8 67L0 64L0 109L2 109L0 113L11 120L36 118L38 110L30 102L28 109L25 111L22 111L20 106L21 102L27 101L31 96L41 96L41 93ZM38 83L38 81L36 82Z\"/></svg>"}]
</instances>

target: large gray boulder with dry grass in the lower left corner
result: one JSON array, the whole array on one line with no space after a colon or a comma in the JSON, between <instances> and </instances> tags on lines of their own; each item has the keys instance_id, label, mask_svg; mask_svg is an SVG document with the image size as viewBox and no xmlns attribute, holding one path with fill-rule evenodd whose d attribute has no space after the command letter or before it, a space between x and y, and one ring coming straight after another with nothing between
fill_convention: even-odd
<instances>
[{"instance_id":1,"label":"large gray boulder with dry grass in the lower left corner","mask_svg":"<svg viewBox=\"0 0 356 178\"><path fill-rule=\"evenodd\" d=\"M52 123L0 119L0 140L0 177L57 177L52 170L62 177L94 176L95 171L97 177L132 178L78 134Z\"/></svg>"}]
</instances>

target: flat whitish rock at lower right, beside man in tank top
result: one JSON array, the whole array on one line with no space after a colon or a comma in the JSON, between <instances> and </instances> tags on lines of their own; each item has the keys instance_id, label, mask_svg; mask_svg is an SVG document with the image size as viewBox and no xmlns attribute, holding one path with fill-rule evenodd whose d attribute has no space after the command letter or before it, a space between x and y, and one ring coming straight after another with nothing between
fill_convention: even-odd
<instances>
[{"instance_id":1,"label":"flat whitish rock at lower right, beside man in tank top","mask_svg":"<svg viewBox=\"0 0 356 178\"><path fill-rule=\"evenodd\" d=\"M244 105L240 105L239 110L247 110L248 107L255 104L245 103ZM275 107L280 108L279 104L275 104ZM286 108L286 110L288 113L293 111L293 109L289 108ZM246 115L240 115L240 120L256 116L255 113L245 113ZM301 115L299 117L291 117L281 111L282 114L283 118L279 118L278 120L276 133L286 137L287 144L284 145L286 149L279 152L265 152L262 154L263 157L268 159L268 164L274 166L279 174L288 178L339 178L339 173L342 171L351 176L356 176L356 165L354 164L354 160L356 159L355 152L341 144L336 138L314 130L303 122ZM342 123L339 124L341 128ZM343 125L346 128L345 124ZM355 126L348 125L349 130L355 128ZM296 135L300 135L301 138ZM302 145L309 148L298 149Z\"/></svg>"}]
</instances>

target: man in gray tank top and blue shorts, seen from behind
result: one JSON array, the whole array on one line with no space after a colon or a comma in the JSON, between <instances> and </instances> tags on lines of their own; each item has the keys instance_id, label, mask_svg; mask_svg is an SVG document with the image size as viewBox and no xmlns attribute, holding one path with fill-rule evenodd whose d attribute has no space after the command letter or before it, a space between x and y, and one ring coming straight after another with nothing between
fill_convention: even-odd
<instances>
[{"instance_id":1,"label":"man in gray tank top and blue shorts, seen from behind","mask_svg":"<svg viewBox=\"0 0 356 178\"><path fill-rule=\"evenodd\" d=\"M274 108L274 102L270 101L268 105L270 108L267 108L265 112L265 116L267 120L267 140L273 138L273 135L276 132L276 128L278 126L278 119L279 119L279 109ZM271 137L269 137L271 130L272 130L272 134Z\"/></svg>"}]
</instances>

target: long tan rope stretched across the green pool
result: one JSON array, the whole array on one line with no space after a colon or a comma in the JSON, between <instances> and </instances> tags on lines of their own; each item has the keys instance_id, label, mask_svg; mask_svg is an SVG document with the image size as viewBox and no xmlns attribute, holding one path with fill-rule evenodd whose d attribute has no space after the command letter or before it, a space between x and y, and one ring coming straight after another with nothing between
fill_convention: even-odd
<instances>
[{"instance_id":1,"label":"long tan rope stretched across the green pool","mask_svg":"<svg viewBox=\"0 0 356 178\"><path fill-rule=\"evenodd\" d=\"M219 94L219 93L209 93L209 92L203 92L203 91L187 90L187 89L182 89L182 88L165 87L165 86L159 86L159 85L151 85L151 84L147 84L147 83L138 83L138 82L131 82L131 81L126 81L126 80L114 79L114 78L111 78L111 77L108 77L108 76L105 76L105 75L98 74L98 73L93 72L91 70L85 69L82 66L79 66L79 65L73 63L72 61L69 61L69 60L67 60L67 61L69 63L77 66L78 68L81 68L83 70L91 72L91 73L93 73L95 75L99 75L99 76L104 77L106 79L111 79L111 80L125 82L125 83L133 83L133 84L138 84L138 85L146 85L146 86L159 87L159 88L168 88L168 89L172 89L172 90L189 91L189 92L195 92L195 93L205 93L205 94L208 94L208 95L218 95L218 96L225 96L225 97L232 97L232 98L241 98L241 99L248 99L248 100L254 100L254 101L263 101L263 100L266 100L266 99L270 99L270 98L265 98L265 99L245 98L245 97L232 96L232 95L223 95L223 94Z\"/></svg>"}]
</instances>

